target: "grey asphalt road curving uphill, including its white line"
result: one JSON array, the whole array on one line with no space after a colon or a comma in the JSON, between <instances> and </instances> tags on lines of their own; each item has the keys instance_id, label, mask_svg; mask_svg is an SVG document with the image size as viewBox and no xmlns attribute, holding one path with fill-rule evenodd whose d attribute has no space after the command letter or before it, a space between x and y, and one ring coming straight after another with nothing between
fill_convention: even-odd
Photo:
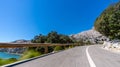
<instances>
[{"instance_id":1,"label":"grey asphalt road curving uphill, including its white line","mask_svg":"<svg viewBox=\"0 0 120 67\"><path fill-rule=\"evenodd\" d=\"M120 67L120 54L100 45L68 49L14 67Z\"/></svg>"}]
</instances>

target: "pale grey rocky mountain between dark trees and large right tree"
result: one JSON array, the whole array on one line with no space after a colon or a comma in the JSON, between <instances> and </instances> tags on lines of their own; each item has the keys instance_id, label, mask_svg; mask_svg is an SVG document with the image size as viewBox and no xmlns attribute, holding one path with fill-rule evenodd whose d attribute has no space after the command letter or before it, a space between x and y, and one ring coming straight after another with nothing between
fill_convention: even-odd
<instances>
[{"instance_id":1,"label":"pale grey rocky mountain between dark trees and large right tree","mask_svg":"<svg viewBox=\"0 0 120 67\"><path fill-rule=\"evenodd\" d=\"M93 44L103 43L103 41L109 40L107 37L97 32L94 28L78 34L70 35L70 38L72 38L73 40L82 40L83 42L90 42Z\"/></svg>"}]
</instances>

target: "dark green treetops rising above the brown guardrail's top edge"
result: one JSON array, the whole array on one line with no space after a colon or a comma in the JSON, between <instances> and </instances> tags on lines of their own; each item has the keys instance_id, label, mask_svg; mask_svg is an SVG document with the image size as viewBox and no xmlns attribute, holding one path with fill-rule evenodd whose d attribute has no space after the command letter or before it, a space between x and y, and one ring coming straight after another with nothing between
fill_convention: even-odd
<instances>
[{"instance_id":1,"label":"dark green treetops rising above the brown guardrail's top edge","mask_svg":"<svg viewBox=\"0 0 120 67\"><path fill-rule=\"evenodd\" d=\"M56 31L51 31L48 35L42 34L35 36L31 42L33 43L73 43L67 35L58 34Z\"/></svg>"}]
</instances>

